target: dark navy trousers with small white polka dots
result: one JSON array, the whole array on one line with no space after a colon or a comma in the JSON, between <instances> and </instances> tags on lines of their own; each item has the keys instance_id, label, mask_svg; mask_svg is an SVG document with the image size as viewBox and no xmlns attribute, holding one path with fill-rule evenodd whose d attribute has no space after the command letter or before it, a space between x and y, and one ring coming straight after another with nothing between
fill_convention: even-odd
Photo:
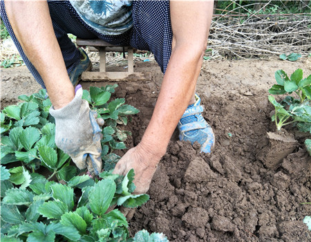
<instances>
[{"instance_id":1,"label":"dark navy trousers with small white polka dots","mask_svg":"<svg viewBox=\"0 0 311 242\"><path fill-rule=\"evenodd\" d=\"M122 35L102 35L85 24L79 17L69 1L48 1L50 17L62 55L66 64L67 72L73 71L81 58L79 50L68 38L68 33L81 39L104 39L111 44L120 46L132 46L139 50L149 50L153 53L161 70L165 73L169 57L171 56L171 19L169 14L169 1L133 1L133 28ZM0 2L1 18L26 66L43 88L44 82L35 66L23 53L23 49L8 21L3 0Z\"/></svg>"}]
</instances>

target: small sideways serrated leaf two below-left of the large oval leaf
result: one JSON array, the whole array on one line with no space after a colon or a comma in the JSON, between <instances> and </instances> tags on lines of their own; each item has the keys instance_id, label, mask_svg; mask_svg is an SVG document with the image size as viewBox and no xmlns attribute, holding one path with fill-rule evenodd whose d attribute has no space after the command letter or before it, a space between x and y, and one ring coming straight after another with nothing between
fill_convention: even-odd
<instances>
[{"instance_id":1,"label":"small sideways serrated leaf two below-left of the large oval leaf","mask_svg":"<svg viewBox=\"0 0 311 242\"><path fill-rule=\"evenodd\" d=\"M68 212L68 206L62 201L48 201L39 207L38 212L46 218L60 219L64 213Z\"/></svg>"}]
</instances>

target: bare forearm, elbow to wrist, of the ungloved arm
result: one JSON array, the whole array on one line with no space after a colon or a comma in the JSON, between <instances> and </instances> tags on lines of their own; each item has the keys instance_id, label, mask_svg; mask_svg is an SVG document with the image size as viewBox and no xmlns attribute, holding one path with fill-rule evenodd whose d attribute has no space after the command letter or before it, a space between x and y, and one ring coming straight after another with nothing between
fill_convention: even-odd
<instances>
[{"instance_id":1,"label":"bare forearm, elbow to wrist, of the ungloved arm","mask_svg":"<svg viewBox=\"0 0 311 242\"><path fill-rule=\"evenodd\" d=\"M186 47L186 48L185 48ZM140 145L156 156L163 156L178 121L185 112L196 88L202 65L202 53L190 55L191 46L176 46L164 75L160 94L151 121Z\"/></svg>"}]
</instances>

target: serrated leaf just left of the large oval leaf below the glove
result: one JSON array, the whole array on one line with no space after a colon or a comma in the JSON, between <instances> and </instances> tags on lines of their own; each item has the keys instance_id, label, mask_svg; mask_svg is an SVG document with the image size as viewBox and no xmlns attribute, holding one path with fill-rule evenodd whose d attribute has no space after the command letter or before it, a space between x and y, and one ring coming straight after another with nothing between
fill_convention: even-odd
<instances>
[{"instance_id":1,"label":"serrated leaf just left of the large oval leaf below the glove","mask_svg":"<svg viewBox=\"0 0 311 242\"><path fill-rule=\"evenodd\" d=\"M73 188L59 183L50 185L50 188L53 192L53 198L65 203L69 211L73 209Z\"/></svg>"}]
</instances>

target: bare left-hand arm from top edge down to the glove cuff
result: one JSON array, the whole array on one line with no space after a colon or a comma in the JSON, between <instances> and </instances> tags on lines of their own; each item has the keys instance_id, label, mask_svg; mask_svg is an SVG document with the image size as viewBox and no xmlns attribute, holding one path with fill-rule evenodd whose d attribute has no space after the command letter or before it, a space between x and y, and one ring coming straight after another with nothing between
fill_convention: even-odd
<instances>
[{"instance_id":1,"label":"bare left-hand arm from top edge down to the glove cuff","mask_svg":"<svg viewBox=\"0 0 311 242\"><path fill-rule=\"evenodd\" d=\"M55 37L46 1L5 1L15 36L30 62L44 80L55 109L75 96L62 52Z\"/></svg>"}]
</instances>

